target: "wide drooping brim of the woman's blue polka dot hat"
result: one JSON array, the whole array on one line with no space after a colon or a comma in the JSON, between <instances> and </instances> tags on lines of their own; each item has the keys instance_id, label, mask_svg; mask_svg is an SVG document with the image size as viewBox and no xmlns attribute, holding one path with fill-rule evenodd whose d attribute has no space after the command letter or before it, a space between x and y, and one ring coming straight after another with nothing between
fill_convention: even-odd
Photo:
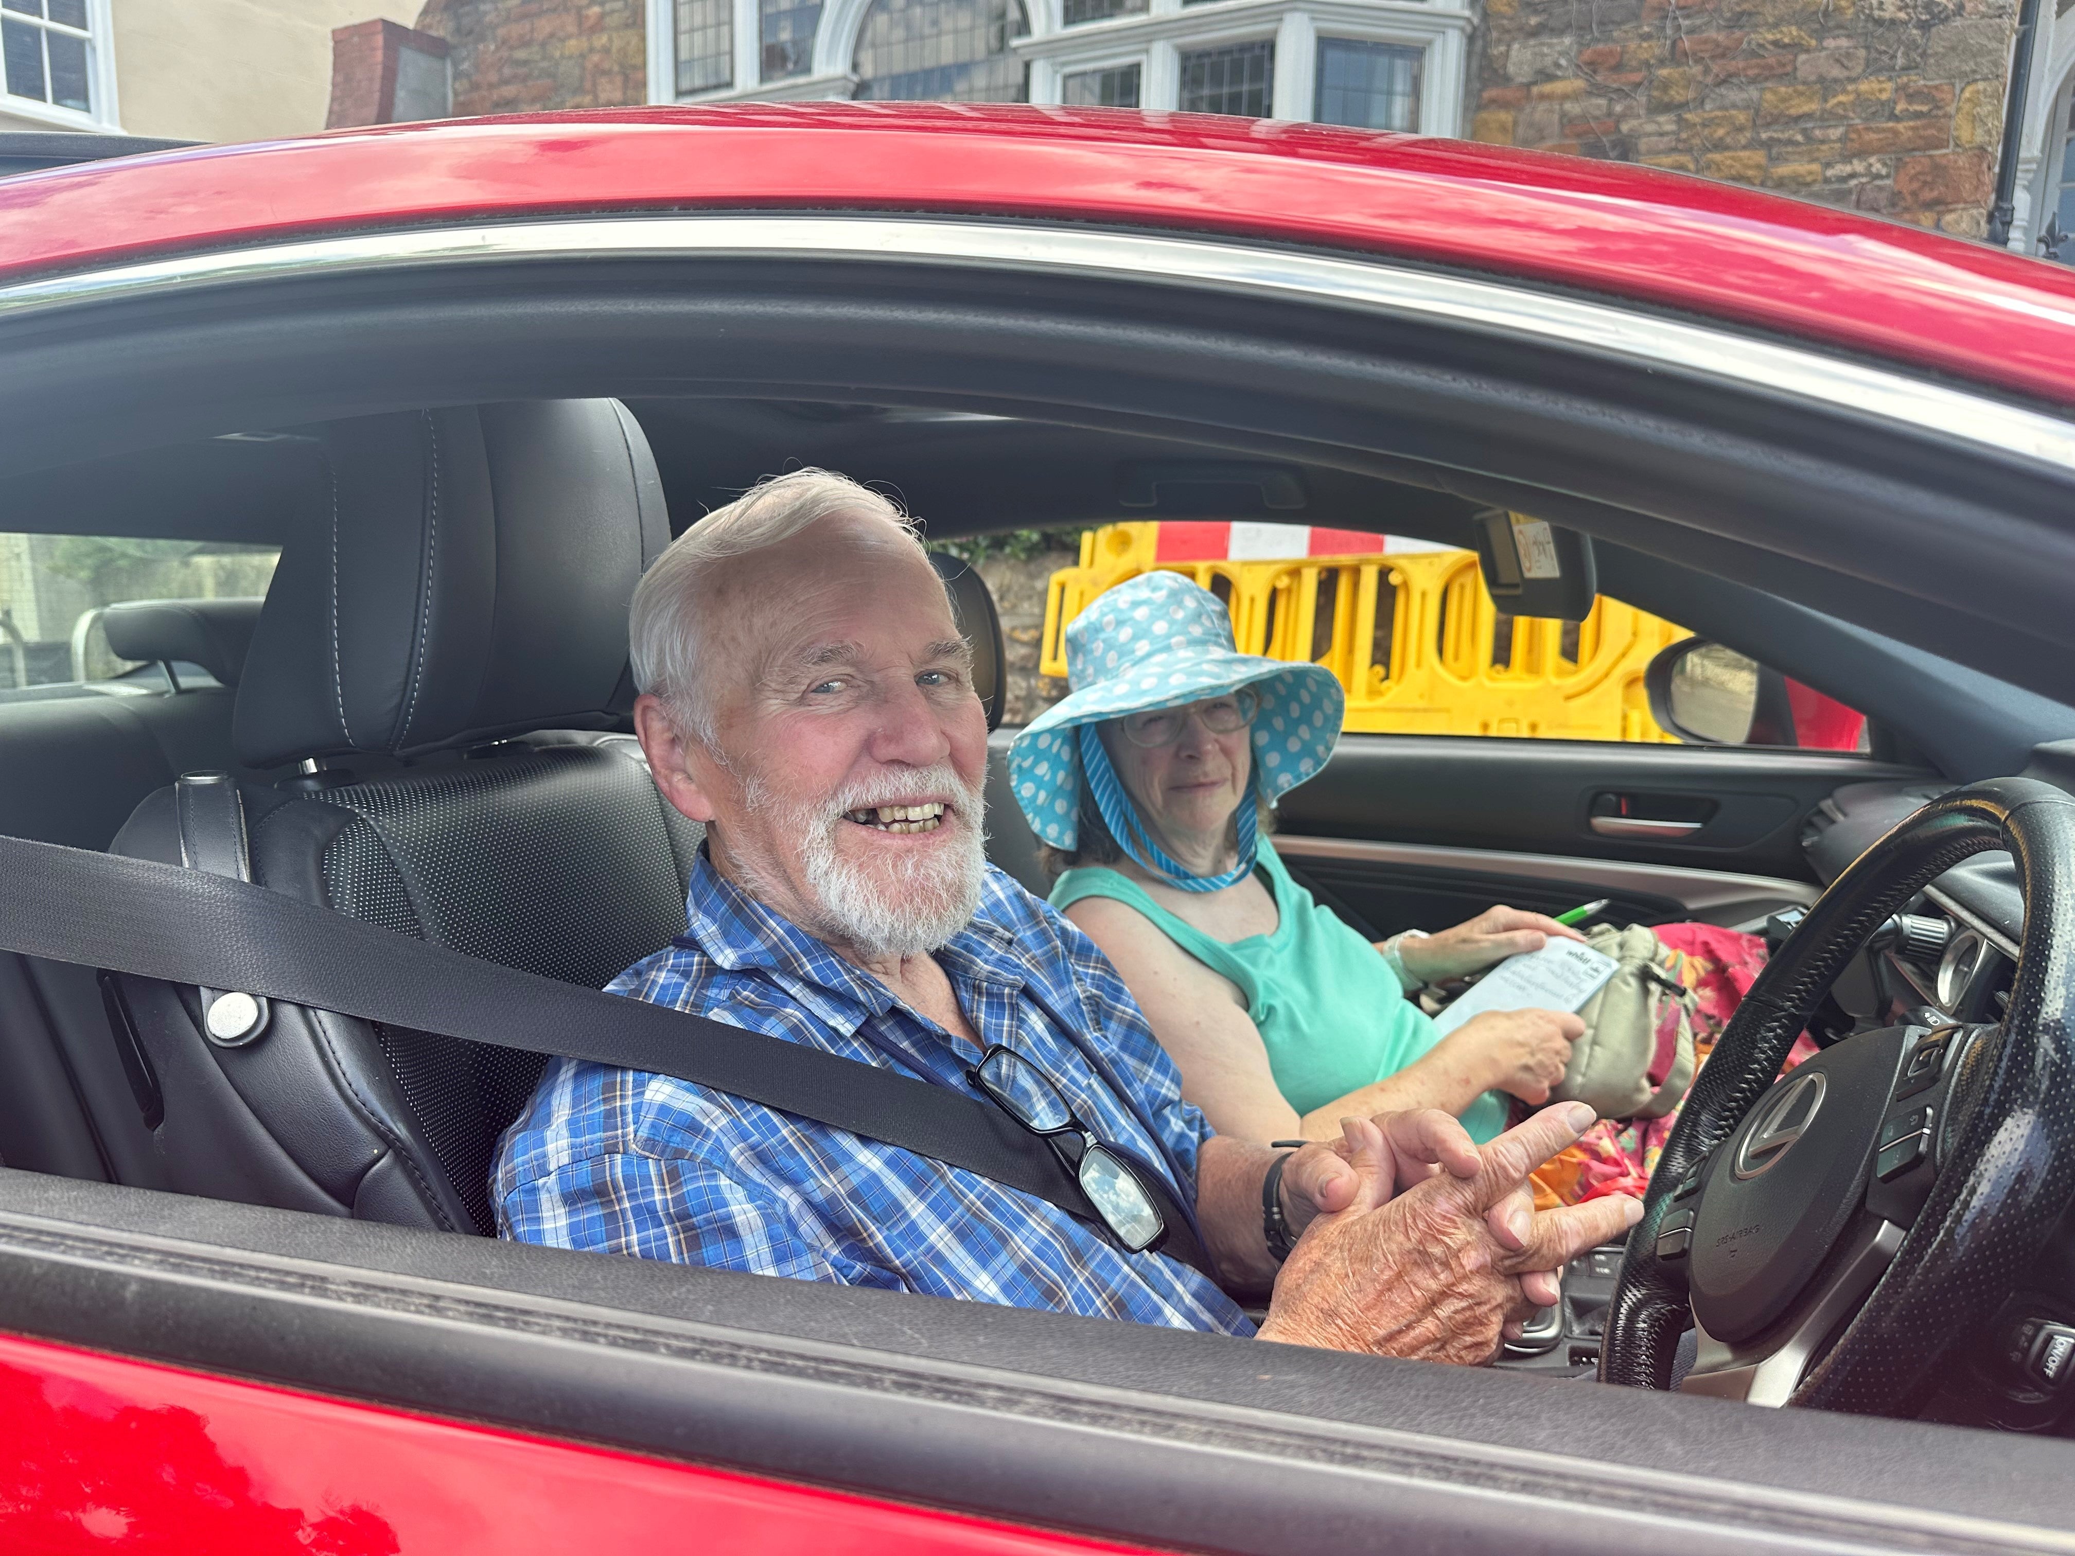
<instances>
[{"instance_id":1,"label":"wide drooping brim of the woman's blue polka dot hat","mask_svg":"<svg viewBox=\"0 0 2075 1556\"><path fill-rule=\"evenodd\" d=\"M1347 697L1322 664L1289 664L1257 654L1156 654L1125 674L1067 695L1025 728L1008 749L1008 788L1031 832L1054 849L1079 842L1081 724L1220 697L1253 687L1253 780L1270 803L1316 776L1340 737Z\"/></svg>"}]
</instances>

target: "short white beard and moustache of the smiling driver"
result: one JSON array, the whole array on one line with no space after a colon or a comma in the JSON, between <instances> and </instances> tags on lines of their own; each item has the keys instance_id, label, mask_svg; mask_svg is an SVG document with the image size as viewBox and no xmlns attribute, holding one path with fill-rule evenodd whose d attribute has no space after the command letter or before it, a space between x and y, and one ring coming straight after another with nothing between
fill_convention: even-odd
<instances>
[{"instance_id":1,"label":"short white beard and moustache of the smiling driver","mask_svg":"<svg viewBox=\"0 0 2075 1556\"><path fill-rule=\"evenodd\" d=\"M917 801L928 793L957 795L952 811L944 817L944 826L957 832L944 846L874 865L842 857L836 846L838 828L857 826L845 815L865 805ZM770 793L755 778L743 786L743 797L751 807L774 807ZM967 786L950 766L940 763L898 784L886 780L853 784L820 807L801 805L791 815L780 811L778 836L799 838L799 873L818 919L801 927L832 944L849 946L867 961L921 956L944 946L979 911L988 873L984 805L981 788ZM759 886L753 880L751 884ZM770 900L764 890L755 890L755 896Z\"/></svg>"}]
</instances>

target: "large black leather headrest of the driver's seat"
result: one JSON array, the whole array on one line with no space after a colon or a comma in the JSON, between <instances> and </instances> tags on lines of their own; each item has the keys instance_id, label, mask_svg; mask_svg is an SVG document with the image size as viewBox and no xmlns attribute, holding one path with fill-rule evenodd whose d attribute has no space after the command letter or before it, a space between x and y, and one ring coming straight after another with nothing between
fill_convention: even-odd
<instances>
[{"instance_id":1,"label":"large black leather headrest of the driver's seat","mask_svg":"<svg viewBox=\"0 0 2075 1556\"><path fill-rule=\"evenodd\" d=\"M332 423L239 687L239 757L415 755L631 697L627 604L670 523L618 400Z\"/></svg>"}]
</instances>

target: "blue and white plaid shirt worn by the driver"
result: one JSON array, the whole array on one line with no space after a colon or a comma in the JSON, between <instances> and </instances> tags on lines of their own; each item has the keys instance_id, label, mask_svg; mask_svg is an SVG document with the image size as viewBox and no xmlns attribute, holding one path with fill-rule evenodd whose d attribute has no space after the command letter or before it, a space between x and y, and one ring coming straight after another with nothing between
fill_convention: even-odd
<instances>
[{"instance_id":1,"label":"blue and white plaid shirt worn by the driver","mask_svg":"<svg viewBox=\"0 0 2075 1556\"><path fill-rule=\"evenodd\" d=\"M936 958L984 1041L1033 1060L1100 1139L1195 1203L1212 1131L1087 936L990 867L979 913ZM608 992L977 1095L965 1073L979 1048L737 890L703 853L687 934ZM550 1060L504 1135L492 1193L498 1230L527 1243L1251 1334L1204 1274L1125 1253L1056 1205L666 1075Z\"/></svg>"}]
</instances>

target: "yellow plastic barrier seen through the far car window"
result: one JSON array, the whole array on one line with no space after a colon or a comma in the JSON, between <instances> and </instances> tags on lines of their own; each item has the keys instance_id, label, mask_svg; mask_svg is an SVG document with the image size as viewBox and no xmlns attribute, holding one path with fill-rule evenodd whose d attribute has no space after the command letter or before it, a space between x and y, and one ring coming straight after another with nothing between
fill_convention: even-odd
<instances>
[{"instance_id":1,"label":"yellow plastic barrier seen through the far car window","mask_svg":"<svg viewBox=\"0 0 2075 1556\"><path fill-rule=\"evenodd\" d=\"M1156 535L1143 523L1081 537L1081 564L1046 591L1040 674L1067 674L1060 635L1096 595L1166 568L1226 602L1243 654L1332 670L1349 730L1677 745L1650 718L1643 666L1687 631L1619 600L1600 595L1573 627L1500 614L1475 552L1160 562Z\"/></svg>"}]
</instances>

